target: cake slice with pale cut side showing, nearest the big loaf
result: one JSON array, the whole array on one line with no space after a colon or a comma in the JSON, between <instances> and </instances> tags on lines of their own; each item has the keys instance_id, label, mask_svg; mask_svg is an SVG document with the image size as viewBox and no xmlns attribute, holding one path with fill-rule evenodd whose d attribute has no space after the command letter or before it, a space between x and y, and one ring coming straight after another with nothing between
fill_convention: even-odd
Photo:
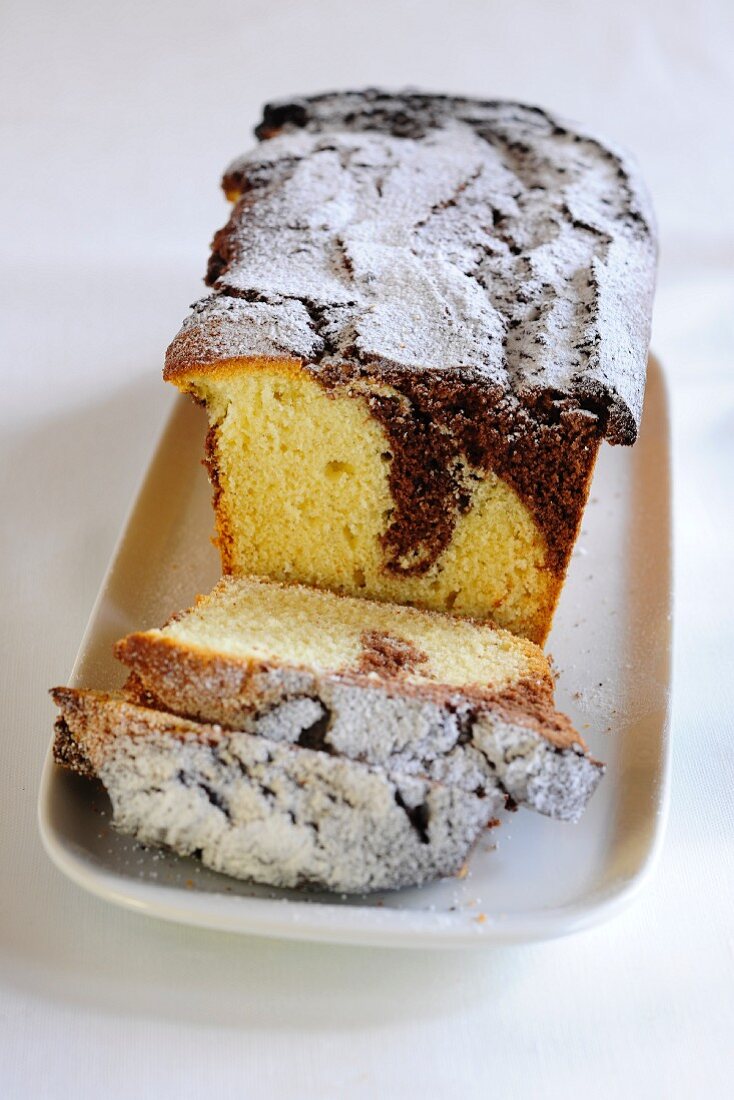
<instances>
[{"instance_id":1,"label":"cake slice with pale cut side showing, nearest the big loaf","mask_svg":"<svg viewBox=\"0 0 734 1100\"><path fill-rule=\"evenodd\" d=\"M467 791L500 783L565 821L603 772L541 651L486 623L230 576L116 652L140 702Z\"/></svg>"}]
</instances>

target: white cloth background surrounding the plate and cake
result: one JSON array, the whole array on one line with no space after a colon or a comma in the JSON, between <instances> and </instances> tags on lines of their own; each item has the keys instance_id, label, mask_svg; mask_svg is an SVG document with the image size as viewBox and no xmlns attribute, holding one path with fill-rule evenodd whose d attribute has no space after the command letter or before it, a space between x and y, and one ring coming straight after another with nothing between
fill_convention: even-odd
<instances>
[{"instance_id":1,"label":"white cloth background surrounding the plate and cake","mask_svg":"<svg viewBox=\"0 0 734 1100\"><path fill-rule=\"evenodd\" d=\"M734 1086L734 3L118 0L0 7L4 729L0 1096L724 1097ZM272 97L382 82L539 102L637 154L672 394L672 805L612 923L483 954L168 926L67 883L35 799L172 399L217 189Z\"/></svg>"}]
</instances>

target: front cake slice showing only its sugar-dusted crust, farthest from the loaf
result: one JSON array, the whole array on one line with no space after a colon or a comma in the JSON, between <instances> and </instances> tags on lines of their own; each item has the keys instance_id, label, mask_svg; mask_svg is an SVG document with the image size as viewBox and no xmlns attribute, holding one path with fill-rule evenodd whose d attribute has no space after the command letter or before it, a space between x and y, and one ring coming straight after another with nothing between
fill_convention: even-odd
<instances>
[{"instance_id":1,"label":"front cake slice showing only its sugar-dusted crust, farthest from the loaf","mask_svg":"<svg viewBox=\"0 0 734 1100\"><path fill-rule=\"evenodd\" d=\"M97 776L117 828L274 887L363 892L456 875L503 803L57 688L58 762Z\"/></svg>"}]
</instances>

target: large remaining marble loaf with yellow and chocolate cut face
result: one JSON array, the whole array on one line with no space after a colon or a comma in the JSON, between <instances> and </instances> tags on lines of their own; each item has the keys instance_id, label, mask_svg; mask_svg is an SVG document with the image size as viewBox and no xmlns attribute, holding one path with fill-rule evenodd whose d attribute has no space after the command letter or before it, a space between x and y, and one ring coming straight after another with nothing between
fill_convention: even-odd
<instances>
[{"instance_id":1,"label":"large remaining marble loaf with yellow and chocolate cut face","mask_svg":"<svg viewBox=\"0 0 734 1100\"><path fill-rule=\"evenodd\" d=\"M265 108L165 377L206 405L223 571L541 644L603 439L642 413L655 233L628 160L534 107Z\"/></svg>"}]
</instances>

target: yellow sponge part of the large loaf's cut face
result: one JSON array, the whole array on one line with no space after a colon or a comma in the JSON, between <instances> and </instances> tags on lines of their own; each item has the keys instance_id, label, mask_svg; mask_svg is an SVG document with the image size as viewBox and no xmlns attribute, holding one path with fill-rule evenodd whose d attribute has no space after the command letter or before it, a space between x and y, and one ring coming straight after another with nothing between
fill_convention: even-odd
<instances>
[{"instance_id":1,"label":"yellow sponge part of the large loaf's cut face","mask_svg":"<svg viewBox=\"0 0 734 1100\"><path fill-rule=\"evenodd\" d=\"M391 441L359 392L327 389L293 362L209 369L186 388L212 425L227 572L491 618L544 639L560 578L530 512L491 470L469 471L469 507L437 560L423 572L391 571Z\"/></svg>"}]
</instances>

